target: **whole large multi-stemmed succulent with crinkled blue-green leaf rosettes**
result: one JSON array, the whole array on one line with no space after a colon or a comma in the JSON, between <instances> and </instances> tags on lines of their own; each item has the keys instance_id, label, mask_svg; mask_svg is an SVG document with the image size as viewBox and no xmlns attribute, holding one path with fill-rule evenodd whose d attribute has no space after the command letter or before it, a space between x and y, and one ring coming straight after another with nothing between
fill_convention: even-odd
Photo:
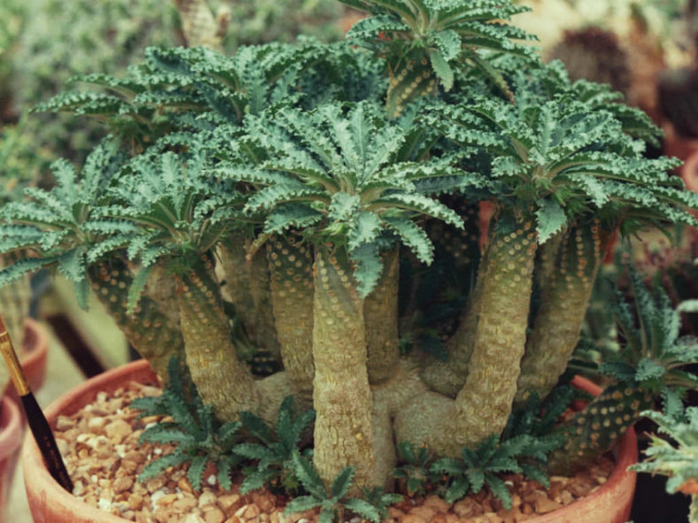
<instances>
[{"instance_id":1,"label":"whole large multi-stemmed succulent with crinkled blue-green leaf rosettes","mask_svg":"<svg viewBox=\"0 0 698 523\"><path fill-rule=\"evenodd\" d=\"M508 22L523 8L349 4L371 16L345 42L150 49L48 102L111 135L80 174L59 162L56 188L0 209L0 251L32 255L0 283L55 267L83 303L92 288L164 381L178 357L217 423L257 438L237 449L257 462L248 488L306 490L295 509L376 519L353 500L383 504L396 468L410 491L438 474L449 500L484 482L506 500L495 473L570 473L661 384L694 388L674 320L639 290L646 334L622 316L628 363L609 366L621 384L562 423L571 398L551 393L610 238L696 225L698 196L677 161L646 157L646 115L539 62ZM253 376L250 344L283 370ZM315 412L307 446L288 396Z\"/></svg>"}]
</instances>

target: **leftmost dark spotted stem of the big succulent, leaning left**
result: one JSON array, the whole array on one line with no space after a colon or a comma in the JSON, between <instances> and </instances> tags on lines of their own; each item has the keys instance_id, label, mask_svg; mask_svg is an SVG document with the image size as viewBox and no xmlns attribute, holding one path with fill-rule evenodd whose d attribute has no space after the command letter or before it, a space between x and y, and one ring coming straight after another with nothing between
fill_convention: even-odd
<instances>
[{"instance_id":1,"label":"leftmost dark spotted stem of the big succulent, leaning left","mask_svg":"<svg viewBox=\"0 0 698 523\"><path fill-rule=\"evenodd\" d=\"M179 324L148 294L128 314L128 289L133 274L121 258L110 258L89 267L89 282L97 299L126 335L128 342L147 359L151 368L167 382L170 359L184 358L184 340Z\"/></svg>"}]
</instances>

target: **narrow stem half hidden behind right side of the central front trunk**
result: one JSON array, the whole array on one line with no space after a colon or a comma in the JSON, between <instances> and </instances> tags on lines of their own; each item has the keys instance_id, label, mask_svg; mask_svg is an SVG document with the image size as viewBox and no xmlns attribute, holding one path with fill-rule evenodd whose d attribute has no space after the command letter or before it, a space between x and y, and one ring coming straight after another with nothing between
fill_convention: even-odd
<instances>
[{"instance_id":1,"label":"narrow stem half hidden behind right side of the central front trunk","mask_svg":"<svg viewBox=\"0 0 698 523\"><path fill-rule=\"evenodd\" d=\"M399 361L399 250L395 248L384 254L383 264L383 274L363 305L371 385L390 379Z\"/></svg>"}]
</instances>

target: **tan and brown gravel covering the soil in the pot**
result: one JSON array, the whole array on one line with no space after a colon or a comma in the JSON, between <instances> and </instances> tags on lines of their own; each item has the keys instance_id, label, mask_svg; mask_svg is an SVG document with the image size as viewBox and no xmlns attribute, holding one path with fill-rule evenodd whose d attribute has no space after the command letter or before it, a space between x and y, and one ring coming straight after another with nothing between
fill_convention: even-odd
<instances>
[{"instance_id":1,"label":"tan and brown gravel covering the soil in the pot","mask_svg":"<svg viewBox=\"0 0 698 523\"><path fill-rule=\"evenodd\" d=\"M123 519L141 523L314 523L317 514L307 511L283 515L286 500L259 490L243 496L242 478L224 491L213 471L205 474L201 492L186 479L186 467L168 469L165 475L139 483L136 476L152 458L172 450L167 445L139 446L138 437L156 417L136 420L128 404L138 396L157 396L159 388L131 383L113 395L99 393L94 403L72 416L58 418L55 430L61 451L74 481L74 495L85 503ZM601 458L584 473L572 478L553 476L550 488L518 474L503 477L512 493L512 510L484 488L455 504L438 496L406 498L393 505L386 523L514 523L555 511L593 492L613 470L609 458ZM236 480L236 478L234 478ZM361 523L347 515L346 521Z\"/></svg>"}]
</instances>

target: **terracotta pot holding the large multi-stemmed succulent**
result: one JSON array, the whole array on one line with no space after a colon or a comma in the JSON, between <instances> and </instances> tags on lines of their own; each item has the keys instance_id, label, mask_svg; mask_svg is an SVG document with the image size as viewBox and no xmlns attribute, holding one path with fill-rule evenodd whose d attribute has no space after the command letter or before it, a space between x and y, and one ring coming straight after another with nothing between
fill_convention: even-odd
<instances>
[{"instance_id":1,"label":"terracotta pot holding the large multi-stemmed succulent","mask_svg":"<svg viewBox=\"0 0 698 523\"><path fill-rule=\"evenodd\" d=\"M153 384L157 381L157 377L143 360L120 366L85 381L79 387L59 397L45 409L46 417L50 424L54 425L58 414L73 414L84 405L91 403L97 397L97 392L103 390L111 392L128 381ZM592 394L599 394L601 391L591 381L581 378L575 379L573 383ZM601 488L559 511L528 521L531 523L624 523L627 521L635 488L635 473L627 472L626 469L637 461L638 455L637 441L632 428L621 439L618 449L616 470ZM43 465L36 443L30 435L27 435L27 441L22 450L22 466L27 499L35 522L123 523L125 521L82 503L61 488L50 477Z\"/></svg>"}]
</instances>

